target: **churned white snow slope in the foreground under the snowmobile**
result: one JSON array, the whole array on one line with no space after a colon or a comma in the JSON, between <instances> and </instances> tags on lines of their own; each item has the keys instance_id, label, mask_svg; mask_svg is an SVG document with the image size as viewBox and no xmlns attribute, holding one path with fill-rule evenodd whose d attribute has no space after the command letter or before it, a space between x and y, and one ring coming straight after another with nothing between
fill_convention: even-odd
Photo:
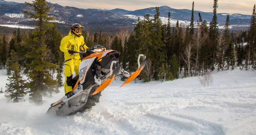
<instances>
[{"instance_id":1,"label":"churned white snow slope in the foreground under the snowmobile","mask_svg":"<svg viewBox=\"0 0 256 135\"><path fill-rule=\"evenodd\" d=\"M0 70L3 91L8 83ZM198 77L174 81L138 80L122 85L116 78L100 102L71 116L46 115L64 95L44 97L42 105L12 103L0 93L0 134L26 135L255 135L256 71L214 71L211 86Z\"/></svg>"}]
</instances>

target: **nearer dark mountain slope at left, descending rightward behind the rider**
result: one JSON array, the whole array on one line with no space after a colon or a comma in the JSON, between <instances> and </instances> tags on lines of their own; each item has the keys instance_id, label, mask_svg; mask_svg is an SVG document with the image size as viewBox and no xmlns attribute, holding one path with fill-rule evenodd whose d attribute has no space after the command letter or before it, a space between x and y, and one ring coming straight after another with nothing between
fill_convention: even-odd
<instances>
[{"instance_id":1,"label":"nearer dark mountain slope at left, descending rightward behind the rider","mask_svg":"<svg viewBox=\"0 0 256 135\"><path fill-rule=\"evenodd\" d=\"M61 26L61 29L69 29L71 24L80 23L90 30L100 31L107 29L108 32L114 32L120 28L133 28L133 23L136 20L127 18L126 16L116 14L108 11L79 9L69 6L60 6L59 4L52 4L47 2L48 5L53 5L50 9L49 16L56 17L56 23ZM32 25L33 20L29 16L23 14L24 10L33 12L33 8L25 5L11 5L0 4L0 22L1 24L24 24Z\"/></svg>"}]
</instances>

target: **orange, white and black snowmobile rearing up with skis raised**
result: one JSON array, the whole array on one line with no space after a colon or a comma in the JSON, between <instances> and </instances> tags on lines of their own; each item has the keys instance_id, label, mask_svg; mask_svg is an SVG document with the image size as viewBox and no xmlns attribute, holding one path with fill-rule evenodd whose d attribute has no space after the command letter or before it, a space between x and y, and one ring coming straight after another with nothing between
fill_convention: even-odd
<instances>
[{"instance_id":1,"label":"orange, white and black snowmobile rearing up with skis raised","mask_svg":"<svg viewBox=\"0 0 256 135\"><path fill-rule=\"evenodd\" d=\"M99 102L100 94L117 75L128 77L120 86L123 87L135 79L146 64L146 56L139 54L138 69L131 75L124 71L118 63L120 52L106 50L104 46L94 45L85 49L80 46L82 62L79 66L79 74L72 78L72 88L74 95L70 98L63 96L55 103L51 104L48 114L72 115L85 109L90 109ZM140 58L143 58L140 64Z\"/></svg>"}]
</instances>

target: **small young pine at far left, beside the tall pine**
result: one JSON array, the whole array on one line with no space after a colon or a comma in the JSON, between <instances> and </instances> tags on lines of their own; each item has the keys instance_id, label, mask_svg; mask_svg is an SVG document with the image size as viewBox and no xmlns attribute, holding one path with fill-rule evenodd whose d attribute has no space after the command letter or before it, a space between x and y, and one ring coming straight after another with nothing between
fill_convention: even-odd
<instances>
[{"instance_id":1,"label":"small young pine at far left, beside the tall pine","mask_svg":"<svg viewBox=\"0 0 256 135\"><path fill-rule=\"evenodd\" d=\"M10 52L11 57L8 59L8 61L12 61L17 59L16 53L14 50ZM27 93L27 88L26 88L26 80L22 78L20 75L20 64L18 62L13 62L10 66L12 76L8 76L8 83L6 83L6 92L9 92L9 95L7 97L10 97L11 100L14 102L18 102L20 99L23 99L23 97Z\"/></svg>"}]
</instances>

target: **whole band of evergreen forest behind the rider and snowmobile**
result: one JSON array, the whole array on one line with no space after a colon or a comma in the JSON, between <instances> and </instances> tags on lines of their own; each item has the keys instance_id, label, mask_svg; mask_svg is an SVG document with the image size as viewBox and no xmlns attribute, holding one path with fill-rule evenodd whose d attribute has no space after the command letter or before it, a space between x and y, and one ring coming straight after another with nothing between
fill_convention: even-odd
<instances>
[{"instance_id":1,"label":"whole band of evergreen forest behind the rider and snowmobile","mask_svg":"<svg viewBox=\"0 0 256 135\"><path fill-rule=\"evenodd\" d=\"M42 103L43 96L49 96L62 87L64 55L60 41L68 34L56 30L56 18L48 16L51 6L45 0L35 0L34 12L25 11L36 21L34 30L15 29L12 33L0 35L0 69L5 69L9 83L6 95L18 102L29 94L30 101ZM217 18L218 0L214 0L212 21L194 18L194 2L189 26L179 20L171 27L160 19L159 7L156 14L138 18L134 32L121 29L115 34L102 31L91 33L83 30L84 42L89 48L95 44L117 50L120 65L132 73L138 68L138 54L147 57L146 66L137 79L148 81L170 81L182 77L200 76L213 70L256 69L256 11L248 30L230 30L229 15L224 30L220 32ZM71 26L72 24L70 24ZM126 78L122 78L126 79Z\"/></svg>"}]
</instances>

